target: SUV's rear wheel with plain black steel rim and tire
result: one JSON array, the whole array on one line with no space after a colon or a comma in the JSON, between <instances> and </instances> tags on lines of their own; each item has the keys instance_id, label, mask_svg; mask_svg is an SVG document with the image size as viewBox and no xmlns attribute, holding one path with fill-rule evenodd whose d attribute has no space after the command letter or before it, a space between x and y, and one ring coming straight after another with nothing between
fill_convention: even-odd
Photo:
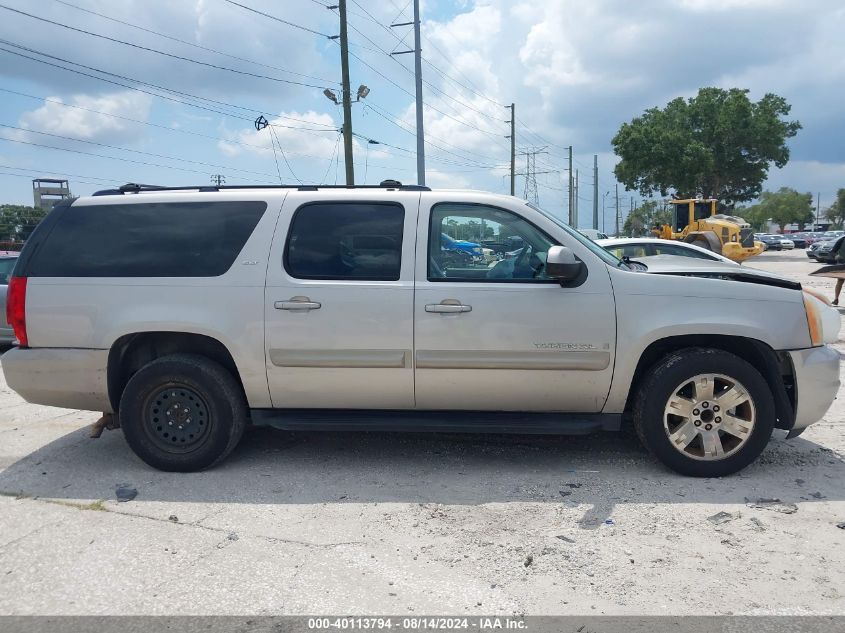
<instances>
[{"instance_id":1,"label":"SUV's rear wheel with plain black steel rim and tire","mask_svg":"<svg viewBox=\"0 0 845 633\"><path fill-rule=\"evenodd\" d=\"M218 464L237 446L246 424L246 401L232 374L193 354L148 363L120 399L120 426L130 448L164 471Z\"/></svg>"}]
</instances>

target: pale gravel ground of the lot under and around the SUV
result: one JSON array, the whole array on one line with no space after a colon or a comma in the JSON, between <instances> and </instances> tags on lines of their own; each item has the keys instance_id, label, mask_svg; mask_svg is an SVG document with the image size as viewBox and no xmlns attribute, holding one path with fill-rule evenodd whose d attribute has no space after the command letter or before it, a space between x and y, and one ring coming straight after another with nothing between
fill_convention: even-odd
<instances>
[{"instance_id":1,"label":"pale gravel ground of the lot under and around the SUV","mask_svg":"<svg viewBox=\"0 0 845 633\"><path fill-rule=\"evenodd\" d=\"M804 251L750 265L832 293ZM3 381L0 614L845 614L844 416L725 479L629 433L270 430L179 475Z\"/></svg>"}]
</instances>

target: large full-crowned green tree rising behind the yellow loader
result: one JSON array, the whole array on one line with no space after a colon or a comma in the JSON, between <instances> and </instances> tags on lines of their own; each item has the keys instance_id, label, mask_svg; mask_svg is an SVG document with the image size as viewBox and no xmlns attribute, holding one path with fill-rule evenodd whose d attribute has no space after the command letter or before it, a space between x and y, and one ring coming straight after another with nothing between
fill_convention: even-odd
<instances>
[{"instance_id":1,"label":"large full-crowned green tree rising behind the yellow loader","mask_svg":"<svg viewBox=\"0 0 845 633\"><path fill-rule=\"evenodd\" d=\"M752 102L739 88L702 88L691 99L650 108L613 137L621 158L616 179L643 196L671 190L681 198L753 200L770 164L780 168L789 160L786 140L801 129L784 119L790 110L783 97Z\"/></svg>"}]
</instances>

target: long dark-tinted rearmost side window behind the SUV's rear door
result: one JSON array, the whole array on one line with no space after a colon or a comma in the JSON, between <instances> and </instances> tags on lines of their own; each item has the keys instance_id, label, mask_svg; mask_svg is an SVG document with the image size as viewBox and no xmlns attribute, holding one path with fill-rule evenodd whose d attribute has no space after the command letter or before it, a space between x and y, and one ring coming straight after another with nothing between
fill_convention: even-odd
<instances>
[{"instance_id":1,"label":"long dark-tinted rearmost side window behind the SUV's rear door","mask_svg":"<svg viewBox=\"0 0 845 633\"><path fill-rule=\"evenodd\" d=\"M30 263L32 277L217 277L265 202L70 206Z\"/></svg>"}]
</instances>

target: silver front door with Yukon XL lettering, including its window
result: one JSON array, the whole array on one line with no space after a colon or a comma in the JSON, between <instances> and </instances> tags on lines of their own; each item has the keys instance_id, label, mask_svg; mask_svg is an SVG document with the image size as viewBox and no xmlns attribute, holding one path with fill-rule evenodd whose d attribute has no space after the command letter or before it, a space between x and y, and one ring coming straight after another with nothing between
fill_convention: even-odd
<instances>
[{"instance_id":1,"label":"silver front door with Yukon XL lettering, including its window","mask_svg":"<svg viewBox=\"0 0 845 633\"><path fill-rule=\"evenodd\" d=\"M429 206L424 195L417 230L418 408L601 411L616 314L597 256L571 236L572 244L549 237L563 229L527 205L519 213L469 201ZM442 249L444 233L497 250L456 258ZM545 277L546 253L557 243L589 260L572 287Z\"/></svg>"}]
</instances>

